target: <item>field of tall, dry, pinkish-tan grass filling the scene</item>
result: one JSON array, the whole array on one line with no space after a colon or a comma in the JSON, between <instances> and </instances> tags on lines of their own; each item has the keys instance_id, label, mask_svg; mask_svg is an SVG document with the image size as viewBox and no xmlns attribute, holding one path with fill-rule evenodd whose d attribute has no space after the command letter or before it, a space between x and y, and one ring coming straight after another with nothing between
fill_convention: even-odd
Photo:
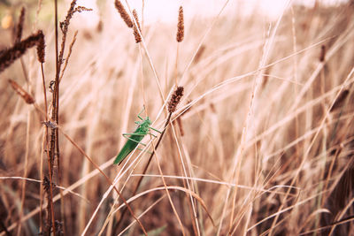
<instances>
[{"instance_id":1,"label":"field of tall, dry, pinkish-tan grass filling the scene","mask_svg":"<svg viewBox=\"0 0 354 236\"><path fill-rule=\"evenodd\" d=\"M62 25L58 123L54 27L25 17L22 37L41 28L46 58L42 67L26 48L0 73L1 235L50 234L48 219L65 235L354 234L353 4L293 6L276 21L219 9L185 17L179 37L178 19L146 25L127 7L133 34L113 2L96 28ZM12 30L1 34L3 49L16 49ZM176 86L184 94L171 111ZM167 125L162 142L148 135L153 156L136 150L113 165L143 106L155 128ZM52 180L46 128L58 128Z\"/></svg>"}]
</instances>

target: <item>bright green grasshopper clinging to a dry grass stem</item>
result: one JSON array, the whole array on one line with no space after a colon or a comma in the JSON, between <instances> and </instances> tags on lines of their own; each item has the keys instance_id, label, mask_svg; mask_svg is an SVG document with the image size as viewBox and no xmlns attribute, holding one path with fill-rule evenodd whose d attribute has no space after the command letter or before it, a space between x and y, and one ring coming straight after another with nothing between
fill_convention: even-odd
<instances>
[{"instance_id":1,"label":"bright green grasshopper clinging to a dry grass stem","mask_svg":"<svg viewBox=\"0 0 354 236\"><path fill-rule=\"evenodd\" d=\"M123 133L123 136L127 138L126 144L124 144L123 148L119 151L119 154L117 155L116 159L114 160L113 164L120 164L129 153L131 153L138 144L142 144L143 146L146 146L146 144L140 142L142 141L143 137L146 134L151 134L152 136L156 137L154 134L150 133L150 129L161 133L157 129L154 129L151 127L151 121L149 117L146 117L143 119L140 114L142 111L138 114L138 118L140 118L142 121L135 121L135 124L137 124L137 128L135 129L134 133Z\"/></svg>"}]
</instances>

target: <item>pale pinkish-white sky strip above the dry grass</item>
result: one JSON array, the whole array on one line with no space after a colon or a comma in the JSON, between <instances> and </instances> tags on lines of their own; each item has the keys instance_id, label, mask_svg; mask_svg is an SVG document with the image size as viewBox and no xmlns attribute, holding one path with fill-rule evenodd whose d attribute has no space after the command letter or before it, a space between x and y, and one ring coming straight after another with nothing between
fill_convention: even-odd
<instances>
[{"instance_id":1,"label":"pale pinkish-white sky strip above the dry grass","mask_svg":"<svg viewBox=\"0 0 354 236\"><path fill-rule=\"evenodd\" d=\"M71 0L67 0L71 2ZM83 5L94 9L91 12L81 12L80 18L84 20L81 21L81 27L96 27L99 20L98 11L96 7L97 0L78 0L78 5ZM126 5L126 0L120 0L122 4ZM301 3L307 6L313 6L316 0L230 0L227 4L224 14L241 12L242 14L250 14L258 9L259 12L265 14L265 17L270 19L277 19L277 17L283 11L284 6L288 2ZM339 4L347 2L347 0L319 0L321 3L325 4ZM117 14L114 8L114 0L108 1L112 2L112 8L110 12L113 15ZM131 9L136 9L138 14L142 12L142 0L128 0L128 4ZM178 9L180 5L184 8L185 19L192 17L212 17L218 14L222 6L226 3L226 0L145 0L144 1L144 21L145 24L153 24L158 21L165 23L175 22L178 15ZM241 8L242 11L237 11L237 8ZM141 15L139 15L141 19ZM86 26L82 26L86 25Z\"/></svg>"}]
</instances>

